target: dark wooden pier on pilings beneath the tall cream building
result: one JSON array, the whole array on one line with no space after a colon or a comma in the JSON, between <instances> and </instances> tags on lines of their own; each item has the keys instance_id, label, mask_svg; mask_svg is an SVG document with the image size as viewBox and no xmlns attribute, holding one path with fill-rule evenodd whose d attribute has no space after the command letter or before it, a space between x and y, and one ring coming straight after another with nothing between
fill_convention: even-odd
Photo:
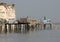
<instances>
[{"instance_id":1,"label":"dark wooden pier on pilings beneath the tall cream building","mask_svg":"<svg viewBox=\"0 0 60 42\"><path fill-rule=\"evenodd\" d=\"M29 31L30 23L6 23L0 25L0 32L19 32L19 31Z\"/></svg>"}]
</instances>

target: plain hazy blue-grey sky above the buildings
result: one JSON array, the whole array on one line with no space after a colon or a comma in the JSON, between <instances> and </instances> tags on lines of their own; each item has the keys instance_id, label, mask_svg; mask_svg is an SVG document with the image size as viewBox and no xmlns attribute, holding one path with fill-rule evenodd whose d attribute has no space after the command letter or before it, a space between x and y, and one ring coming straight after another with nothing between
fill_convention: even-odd
<instances>
[{"instance_id":1,"label":"plain hazy blue-grey sky above the buildings","mask_svg":"<svg viewBox=\"0 0 60 42\"><path fill-rule=\"evenodd\" d=\"M15 4L16 17L29 17L37 20L44 16L53 22L60 22L60 0L0 0Z\"/></svg>"}]
</instances>

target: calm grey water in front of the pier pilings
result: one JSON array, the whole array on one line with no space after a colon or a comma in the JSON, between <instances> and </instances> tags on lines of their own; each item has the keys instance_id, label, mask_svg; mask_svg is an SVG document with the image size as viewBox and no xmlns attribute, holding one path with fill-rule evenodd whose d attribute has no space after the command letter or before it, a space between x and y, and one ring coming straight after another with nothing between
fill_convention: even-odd
<instances>
[{"instance_id":1,"label":"calm grey water in front of the pier pilings","mask_svg":"<svg viewBox=\"0 0 60 42\"><path fill-rule=\"evenodd\" d=\"M0 42L60 42L60 25L53 30L0 34Z\"/></svg>"}]
</instances>

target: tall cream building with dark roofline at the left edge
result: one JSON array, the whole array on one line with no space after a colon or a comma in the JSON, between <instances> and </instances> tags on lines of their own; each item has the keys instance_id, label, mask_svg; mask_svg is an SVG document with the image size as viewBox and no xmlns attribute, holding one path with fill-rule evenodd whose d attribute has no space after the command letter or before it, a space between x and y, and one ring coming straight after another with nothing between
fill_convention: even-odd
<instances>
[{"instance_id":1,"label":"tall cream building with dark roofline at the left edge","mask_svg":"<svg viewBox=\"0 0 60 42\"><path fill-rule=\"evenodd\" d=\"M15 20L14 4L0 3L0 18L6 21Z\"/></svg>"}]
</instances>

